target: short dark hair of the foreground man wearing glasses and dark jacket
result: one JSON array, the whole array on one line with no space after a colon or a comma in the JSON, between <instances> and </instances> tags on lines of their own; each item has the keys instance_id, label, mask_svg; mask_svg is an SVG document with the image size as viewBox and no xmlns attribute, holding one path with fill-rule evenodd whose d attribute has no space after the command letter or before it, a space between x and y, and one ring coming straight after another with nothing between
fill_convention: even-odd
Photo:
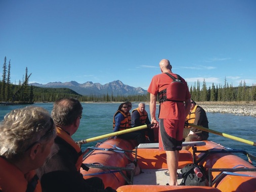
<instances>
[{"instance_id":1,"label":"short dark hair of the foreground man wearing glasses and dark jacket","mask_svg":"<svg viewBox=\"0 0 256 192\"><path fill-rule=\"evenodd\" d=\"M71 125L82 115L82 106L77 99L63 98L54 102L52 117L56 125Z\"/></svg>"}]
</instances>

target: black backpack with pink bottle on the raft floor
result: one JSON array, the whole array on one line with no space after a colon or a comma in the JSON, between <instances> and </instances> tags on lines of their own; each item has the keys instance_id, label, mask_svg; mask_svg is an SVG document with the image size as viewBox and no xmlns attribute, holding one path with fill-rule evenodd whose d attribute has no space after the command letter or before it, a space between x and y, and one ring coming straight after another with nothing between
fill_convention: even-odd
<instances>
[{"instance_id":1,"label":"black backpack with pink bottle on the raft floor","mask_svg":"<svg viewBox=\"0 0 256 192\"><path fill-rule=\"evenodd\" d=\"M194 172L194 168L198 167L203 176L198 178ZM194 185L194 186L209 186L209 182L206 179L204 168L202 165L188 164L181 169L182 182L180 185Z\"/></svg>"}]
</instances>

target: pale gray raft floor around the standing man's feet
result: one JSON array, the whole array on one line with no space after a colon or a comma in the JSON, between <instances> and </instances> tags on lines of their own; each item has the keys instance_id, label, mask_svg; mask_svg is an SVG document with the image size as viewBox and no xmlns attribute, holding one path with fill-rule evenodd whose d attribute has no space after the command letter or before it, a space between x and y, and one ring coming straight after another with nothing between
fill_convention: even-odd
<instances>
[{"instance_id":1,"label":"pale gray raft floor around the standing man's feet","mask_svg":"<svg viewBox=\"0 0 256 192\"><path fill-rule=\"evenodd\" d=\"M169 176L165 175L164 172L167 169L142 169L143 173L134 176L133 184L144 184L144 185L166 185L169 182ZM181 177L181 169L178 169L178 173ZM178 184L182 181L178 179Z\"/></svg>"}]
</instances>

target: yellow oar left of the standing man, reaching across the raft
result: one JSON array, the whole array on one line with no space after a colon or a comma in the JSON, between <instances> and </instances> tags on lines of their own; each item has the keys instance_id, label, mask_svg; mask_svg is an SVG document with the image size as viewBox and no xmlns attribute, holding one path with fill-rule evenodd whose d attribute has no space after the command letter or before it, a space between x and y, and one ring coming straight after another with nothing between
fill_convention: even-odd
<instances>
[{"instance_id":1,"label":"yellow oar left of the standing man, reaching across the raft","mask_svg":"<svg viewBox=\"0 0 256 192\"><path fill-rule=\"evenodd\" d=\"M116 132L112 132L112 133L108 133L108 134L104 134L104 135L100 135L100 136L80 140L80 141L77 141L76 143L81 145L81 144L92 142L92 141L99 140L99 139L102 139L102 138L107 138L107 137L117 136L117 135L124 134L124 133L130 133L130 132L133 132L133 131L138 131L138 130L141 130L141 129L152 127L153 125L154 124L141 125L141 126L130 128L130 129L125 129L125 130L121 130L121 131L116 131Z\"/></svg>"}]
</instances>

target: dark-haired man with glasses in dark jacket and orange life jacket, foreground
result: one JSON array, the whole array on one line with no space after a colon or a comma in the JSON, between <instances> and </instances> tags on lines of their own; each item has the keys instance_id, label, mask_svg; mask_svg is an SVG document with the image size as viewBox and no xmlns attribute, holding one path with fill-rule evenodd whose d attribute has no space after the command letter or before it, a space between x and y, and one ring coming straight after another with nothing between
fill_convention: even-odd
<instances>
[{"instance_id":1,"label":"dark-haired man with glasses in dark jacket and orange life jacket, foreground","mask_svg":"<svg viewBox=\"0 0 256 192\"><path fill-rule=\"evenodd\" d=\"M80 173L82 152L71 136L79 127L82 106L73 98L60 99L54 103L52 117L57 129L51 154L37 170L44 191L115 191L104 189L102 179L83 179Z\"/></svg>"}]
</instances>

